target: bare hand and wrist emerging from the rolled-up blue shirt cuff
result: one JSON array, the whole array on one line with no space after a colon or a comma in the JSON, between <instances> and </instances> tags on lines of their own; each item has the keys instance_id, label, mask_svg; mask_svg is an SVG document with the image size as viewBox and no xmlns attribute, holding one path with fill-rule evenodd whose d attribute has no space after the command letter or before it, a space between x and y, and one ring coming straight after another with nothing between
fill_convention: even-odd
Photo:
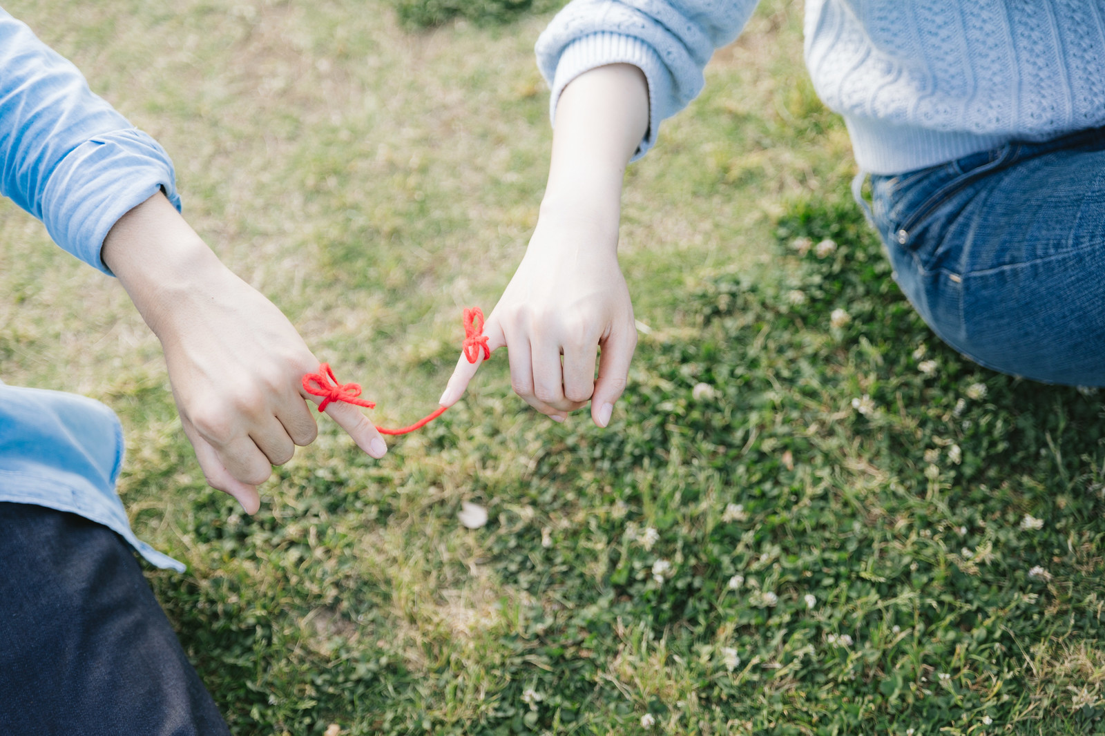
<instances>
[{"instance_id":1,"label":"bare hand and wrist emerging from the rolled-up blue shirt cuff","mask_svg":"<svg viewBox=\"0 0 1105 736\"><path fill-rule=\"evenodd\" d=\"M208 483L246 513L272 465L317 434L302 377L318 369L287 317L234 275L160 193L127 212L101 251L165 350L185 433ZM360 410L328 413L358 446L387 445Z\"/></svg>"}]
</instances>

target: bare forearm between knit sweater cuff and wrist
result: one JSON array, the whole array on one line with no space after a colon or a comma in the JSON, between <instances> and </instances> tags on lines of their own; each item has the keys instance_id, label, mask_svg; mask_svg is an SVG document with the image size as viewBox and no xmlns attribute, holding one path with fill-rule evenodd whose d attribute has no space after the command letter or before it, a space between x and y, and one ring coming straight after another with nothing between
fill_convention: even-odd
<instances>
[{"instance_id":1,"label":"bare forearm between knit sweater cuff and wrist","mask_svg":"<svg viewBox=\"0 0 1105 736\"><path fill-rule=\"evenodd\" d=\"M541 215L618 227L625 166L649 127L649 88L630 64L576 77L560 96Z\"/></svg>"}]
</instances>

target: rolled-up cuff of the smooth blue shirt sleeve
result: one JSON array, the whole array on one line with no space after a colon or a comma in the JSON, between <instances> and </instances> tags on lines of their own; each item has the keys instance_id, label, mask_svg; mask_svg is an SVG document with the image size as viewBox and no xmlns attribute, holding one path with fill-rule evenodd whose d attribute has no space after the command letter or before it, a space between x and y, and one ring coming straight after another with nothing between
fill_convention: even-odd
<instances>
[{"instance_id":1,"label":"rolled-up cuff of the smooth blue shirt sleeve","mask_svg":"<svg viewBox=\"0 0 1105 736\"><path fill-rule=\"evenodd\" d=\"M158 191L180 210L168 154L137 128L113 130L61 160L43 190L42 222L54 242L110 274L99 255L104 238L119 218Z\"/></svg>"}]
</instances>

